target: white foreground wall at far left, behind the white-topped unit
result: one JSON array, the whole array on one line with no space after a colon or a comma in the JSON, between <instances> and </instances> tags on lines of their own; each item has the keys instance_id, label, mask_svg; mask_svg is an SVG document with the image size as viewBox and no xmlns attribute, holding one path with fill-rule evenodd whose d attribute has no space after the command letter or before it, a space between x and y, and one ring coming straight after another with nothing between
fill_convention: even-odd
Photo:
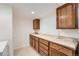
<instances>
[{"instance_id":1,"label":"white foreground wall at far left, behind the white-topped unit","mask_svg":"<svg viewBox=\"0 0 79 59\"><path fill-rule=\"evenodd\" d=\"M10 55L12 55L12 7L6 5L0 5L0 40L9 41Z\"/></svg>"}]
</instances>

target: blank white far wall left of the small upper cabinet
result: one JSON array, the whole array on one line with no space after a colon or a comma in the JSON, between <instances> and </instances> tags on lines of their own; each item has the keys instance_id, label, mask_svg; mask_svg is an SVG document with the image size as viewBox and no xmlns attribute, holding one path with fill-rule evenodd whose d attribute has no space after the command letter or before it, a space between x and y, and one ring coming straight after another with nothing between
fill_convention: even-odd
<instances>
[{"instance_id":1,"label":"blank white far wall left of the small upper cabinet","mask_svg":"<svg viewBox=\"0 0 79 59\"><path fill-rule=\"evenodd\" d=\"M21 7L20 7L21 8ZM22 9L22 8L21 8ZM13 42L14 49L29 45L29 34L32 33L32 19L27 18L21 9L13 8Z\"/></svg>"}]
</instances>

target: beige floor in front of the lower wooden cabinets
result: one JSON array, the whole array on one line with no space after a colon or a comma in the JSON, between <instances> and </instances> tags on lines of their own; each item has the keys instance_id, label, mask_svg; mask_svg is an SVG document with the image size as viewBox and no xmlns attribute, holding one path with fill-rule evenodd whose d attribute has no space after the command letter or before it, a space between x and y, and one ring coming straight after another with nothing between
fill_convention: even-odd
<instances>
[{"instance_id":1,"label":"beige floor in front of the lower wooden cabinets","mask_svg":"<svg viewBox=\"0 0 79 59\"><path fill-rule=\"evenodd\" d=\"M40 56L32 47L20 48L14 51L14 56Z\"/></svg>"}]
</instances>

